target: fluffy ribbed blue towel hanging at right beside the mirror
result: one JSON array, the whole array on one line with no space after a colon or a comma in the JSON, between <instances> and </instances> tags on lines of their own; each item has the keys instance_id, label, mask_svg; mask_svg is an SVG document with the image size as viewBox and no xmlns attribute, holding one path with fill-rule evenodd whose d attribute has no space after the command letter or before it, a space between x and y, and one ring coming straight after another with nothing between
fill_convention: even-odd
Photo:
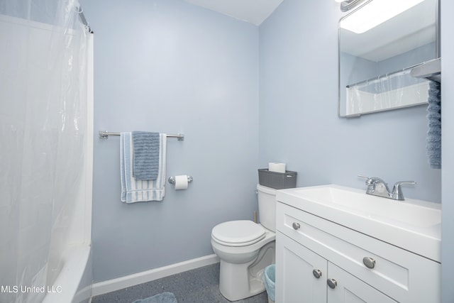
<instances>
[{"instance_id":1,"label":"fluffy ribbed blue towel hanging at right beside the mirror","mask_svg":"<svg viewBox=\"0 0 454 303\"><path fill-rule=\"evenodd\" d=\"M426 148L431 168L441 168L441 89L440 83L429 84L428 89L428 132Z\"/></svg>"}]
</instances>

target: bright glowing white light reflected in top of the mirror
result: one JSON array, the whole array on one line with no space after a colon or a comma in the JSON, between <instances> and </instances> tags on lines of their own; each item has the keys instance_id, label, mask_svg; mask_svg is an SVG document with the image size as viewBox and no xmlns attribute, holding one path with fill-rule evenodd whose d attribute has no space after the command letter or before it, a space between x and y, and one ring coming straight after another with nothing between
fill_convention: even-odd
<instances>
[{"instance_id":1,"label":"bright glowing white light reflected in top of the mirror","mask_svg":"<svg viewBox=\"0 0 454 303\"><path fill-rule=\"evenodd\" d=\"M337 0L336 0L337 1ZM372 0L341 21L341 28L365 33L424 0Z\"/></svg>"}]
</instances>

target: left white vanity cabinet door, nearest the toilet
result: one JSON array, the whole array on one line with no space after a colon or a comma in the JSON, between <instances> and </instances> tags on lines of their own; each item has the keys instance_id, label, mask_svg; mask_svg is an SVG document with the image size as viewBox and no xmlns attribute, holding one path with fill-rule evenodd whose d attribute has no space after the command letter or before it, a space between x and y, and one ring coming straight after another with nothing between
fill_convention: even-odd
<instances>
[{"instance_id":1,"label":"left white vanity cabinet door, nearest the toilet","mask_svg":"<svg viewBox=\"0 0 454 303\"><path fill-rule=\"evenodd\" d=\"M326 303L327 266L320 255L277 232L276 303Z\"/></svg>"}]
</instances>

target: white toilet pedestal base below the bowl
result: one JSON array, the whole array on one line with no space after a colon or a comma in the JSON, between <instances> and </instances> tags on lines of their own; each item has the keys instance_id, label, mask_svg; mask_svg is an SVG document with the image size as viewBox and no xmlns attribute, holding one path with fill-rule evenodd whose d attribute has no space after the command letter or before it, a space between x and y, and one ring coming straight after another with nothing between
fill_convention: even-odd
<instances>
[{"instance_id":1,"label":"white toilet pedestal base below the bowl","mask_svg":"<svg viewBox=\"0 0 454 303\"><path fill-rule=\"evenodd\" d=\"M229 301L237 301L265 291L262 273L275 263L275 241L260 249L258 257L248 263L236 264L221 260L219 290Z\"/></svg>"}]
</instances>

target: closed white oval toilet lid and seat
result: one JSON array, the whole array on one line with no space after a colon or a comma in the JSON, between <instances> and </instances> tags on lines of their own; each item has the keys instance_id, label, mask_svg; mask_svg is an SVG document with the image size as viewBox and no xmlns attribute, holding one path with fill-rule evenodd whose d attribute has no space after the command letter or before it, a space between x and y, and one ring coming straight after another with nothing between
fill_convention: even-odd
<instances>
[{"instance_id":1,"label":"closed white oval toilet lid and seat","mask_svg":"<svg viewBox=\"0 0 454 303\"><path fill-rule=\"evenodd\" d=\"M214 241L226 246L248 246L265 238L265 228L250 220L228 221L214 226Z\"/></svg>"}]
</instances>

